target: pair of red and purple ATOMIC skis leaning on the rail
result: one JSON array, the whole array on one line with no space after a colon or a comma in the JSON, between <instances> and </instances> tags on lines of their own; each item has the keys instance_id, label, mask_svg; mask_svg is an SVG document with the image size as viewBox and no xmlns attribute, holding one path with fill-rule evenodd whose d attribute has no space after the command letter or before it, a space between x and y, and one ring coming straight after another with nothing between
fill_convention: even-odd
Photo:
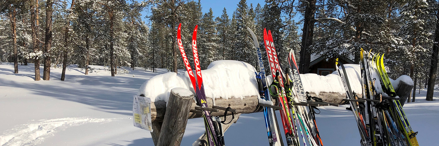
<instances>
[{"instance_id":1,"label":"pair of red and purple ATOMIC skis leaning on the rail","mask_svg":"<svg viewBox=\"0 0 439 146\"><path fill-rule=\"evenodd\" d=\"M194 87L194 91L197 95L196 101L197 105L201 107L207 108L206 103L206 96L204 91L204 85L203 85L203 79L201 74L201 68L200 68L200 61L198 59L198 49L197 49L197 28L198 25L195 26L194 34L192 35L192 51L194 52L194 63L195 63L195 72L197 74L197 78L195 79L194 72L191 69L191 65L189 64L189 60L187 59L186 52L183 48L183 43L181 41L181 23L178 25L177 30L177 43L178 47L180 49L181 56L183 57L183 63L186 67L187 74L189 75L189 78L191 80L192 86ZM209 114L209 111L205 111L205 114L203 115L204 122L205 122L205 129L206 129L206 135L208 139L208 145L209 146L224 146L224 137L222 133L219 133L222 131L222 129L219 129L218 127L221 125L215 126L214 122L216 120L212 120L212 117ZM215 117L213 117L215 118Z\"/></svg>"}]
</instances>

